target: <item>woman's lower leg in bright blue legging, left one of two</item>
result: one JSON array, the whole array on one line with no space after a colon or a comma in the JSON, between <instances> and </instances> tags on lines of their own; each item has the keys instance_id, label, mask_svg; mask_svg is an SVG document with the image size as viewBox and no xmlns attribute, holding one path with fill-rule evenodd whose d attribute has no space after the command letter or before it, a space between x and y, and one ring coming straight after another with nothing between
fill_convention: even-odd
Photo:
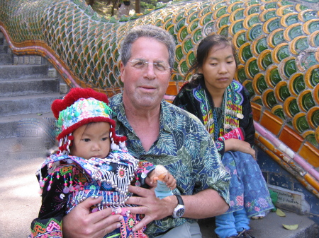
<instances>
[{"instance_id":1,"label":"woman's lower leg in bright blue legging, left one of two","mask_svg":"<svg viewBox=\"0 0 319 238\"><path fill-rule=\"evenodd\" d=\"M233 213L225 213L223 215L216 216L215 233L218 234L220 238L237 236Z\"/></svg>"}]
</instances>

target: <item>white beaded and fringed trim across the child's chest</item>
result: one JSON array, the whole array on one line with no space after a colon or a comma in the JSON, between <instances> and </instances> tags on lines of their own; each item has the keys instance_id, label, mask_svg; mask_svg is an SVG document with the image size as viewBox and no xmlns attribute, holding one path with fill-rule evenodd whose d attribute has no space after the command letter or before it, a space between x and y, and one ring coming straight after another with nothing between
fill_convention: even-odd
<instances>
[{"instance_id":1,"label":"white beaded and fringed trim across the child's chest","mask_svg":"<svg viewBox=\"0 0 319 238\"><path fill-rule=\"evenodd\" d=\"M45 178L41 174L41 169L37 172L40 177L40 189L42 190L45 184L49 183L47 190L50 190L52 180L62 177L65 182L63 194L72 194L67 202L67 213L69 213L72 208L89 197L103 196L102 202L96 206L98 210L105 207L127 206L125 202L131 196L128 185L135 178L138 160L129 153L119 150L103 159L84 160L71 155L51 155L45 160L42 168L45 165L48 169ZM91 182L87 182L87 179L75 179L72 176L74 166L82 167L84 177L91 177ZM65 196L63 194L62 196Z\"/></svg>"}]
</instances>

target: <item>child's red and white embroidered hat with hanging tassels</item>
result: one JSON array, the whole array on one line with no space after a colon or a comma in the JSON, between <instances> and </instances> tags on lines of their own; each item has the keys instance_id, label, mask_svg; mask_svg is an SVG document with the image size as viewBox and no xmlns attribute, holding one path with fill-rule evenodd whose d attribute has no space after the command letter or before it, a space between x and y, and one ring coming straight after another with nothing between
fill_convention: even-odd
<instances>
[{"instance_id":1,"label":"child's red and white embroidered hat with hanging tassels","mask_svg":"<svg viewBox=\"0 0 319 238\"><path fill-rule=\"evenodd\" d=\"M115 133L116 122L112 118L112 110L108 107L108 97L91 88L72 88L63 99L52 102L52 112L57 119L57 136L60 153L69 153L72 145L72 132L91 122L105 121L110 124L111 150L118 150L118 143L125 148L125 136Z\"/></svg>"}]
</instances>

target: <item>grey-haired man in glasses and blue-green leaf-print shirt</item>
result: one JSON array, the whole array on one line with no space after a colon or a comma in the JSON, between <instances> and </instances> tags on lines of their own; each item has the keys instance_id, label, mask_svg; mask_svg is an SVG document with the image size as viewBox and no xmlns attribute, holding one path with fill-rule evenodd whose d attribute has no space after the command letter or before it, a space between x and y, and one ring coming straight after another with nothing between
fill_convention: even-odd
<instances>
[{"instance_id":1,"label":"grey-haired man in glasses and blue-green leaf-print shirt","mask_svg":"<svg viewBox=\"0 0 319 238\"><path fill-rule=\"evenodd\" d=\"M145 217L134 229L147 225L152 237L201 237L196 219L228 210L229 174L216 147L196 117L162 100L174 63L175 44L168 32L152 25L133 28L121 46L123 94L110 106L116 113L116 132L128 137L133 156L164 165L177 179L174 194L159 199L153 189L130 186L137 194L127 203ZM103 237L118 226L108 210L89 214L100 199L88 199L63 220L65 237ZM184 203L184 205L183 205Z\"/></svg>"}]
</instances>

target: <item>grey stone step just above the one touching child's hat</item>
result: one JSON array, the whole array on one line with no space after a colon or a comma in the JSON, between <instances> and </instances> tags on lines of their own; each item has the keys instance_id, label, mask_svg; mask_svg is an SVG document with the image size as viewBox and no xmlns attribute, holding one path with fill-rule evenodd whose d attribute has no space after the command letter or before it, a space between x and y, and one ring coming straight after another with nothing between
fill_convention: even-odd
<instances>
[{"instance_id":1,"label":"grey stone step just above the one touching child's hat","mask_svg":"<svg viewBox=\"0 0 319 238\"><path fill-rule=\"evenodd\" d=\"M16 97L57 93L59 81L57 78L30 78L0 81L0 97Z\"/></svg>"}]
</instances>

